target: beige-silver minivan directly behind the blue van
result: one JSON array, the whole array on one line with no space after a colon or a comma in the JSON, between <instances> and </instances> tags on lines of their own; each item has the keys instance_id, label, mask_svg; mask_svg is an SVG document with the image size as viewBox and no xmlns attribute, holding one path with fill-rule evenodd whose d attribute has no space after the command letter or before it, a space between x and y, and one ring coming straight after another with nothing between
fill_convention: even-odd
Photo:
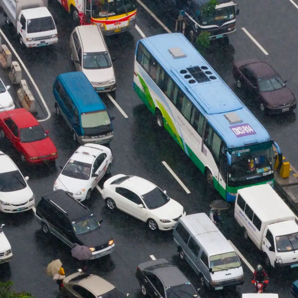
<instances>
[{"instance_id":1,"label":"beige-silver minivan directly behind the blue van","mask_svg":"<svg viewBox=\"0 0 298 298\"><path fill-rule=\"evenodd\" d=\"M112 59L98 26L78 26L70 35L71 60L97 92L116 89Z\"/></svg>"}]
</instances>

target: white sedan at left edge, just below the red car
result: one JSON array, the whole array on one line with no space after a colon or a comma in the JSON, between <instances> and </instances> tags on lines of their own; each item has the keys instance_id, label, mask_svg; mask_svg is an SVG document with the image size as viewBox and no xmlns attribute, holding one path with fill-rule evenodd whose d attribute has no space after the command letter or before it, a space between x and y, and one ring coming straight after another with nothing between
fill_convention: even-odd
<instances>
[{"instance_id":1,"label":"white sedan at left edge, just below the red car","mask_svg":"<svg viewBox=\"0 0 298 298\"><path fill-rule=\"evenodd\" d=\"M24 177L9 156L0 151L0 211L16 213L34 207L34 195Z\"/></svg>"}]
</instances>

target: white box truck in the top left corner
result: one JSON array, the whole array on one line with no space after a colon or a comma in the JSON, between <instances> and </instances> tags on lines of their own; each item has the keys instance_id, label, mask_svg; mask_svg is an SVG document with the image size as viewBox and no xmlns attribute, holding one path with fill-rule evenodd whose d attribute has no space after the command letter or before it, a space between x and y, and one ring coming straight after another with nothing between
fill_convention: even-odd
<instances>
[{"instance_id":1,"label":"white box truck in the top left corner","mask_svg":"<svg viewBox=\"0 0 298 298\"><path fill-rule=\"evenodd\" d=\"M58 42L58 32L48 0L0 0L7 24L17 30L22 47L47 46Z\"/></svg>"}]
</instances>

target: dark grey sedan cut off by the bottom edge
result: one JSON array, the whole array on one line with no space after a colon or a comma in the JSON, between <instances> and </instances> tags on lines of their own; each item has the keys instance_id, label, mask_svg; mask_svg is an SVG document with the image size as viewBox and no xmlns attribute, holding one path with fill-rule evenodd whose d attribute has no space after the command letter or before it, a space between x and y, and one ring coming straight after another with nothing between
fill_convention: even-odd
<instances>
[{"instance_id":1,"label":"dark grey sedan cut off by the bottom edge","mask_svg":"<svg viewBox=\"0 0 298 298\"><path fill-rule=\"evenodd\" d=\"M190 298L198 293L186 276L165 259L148 261L136 268L142 294L152 298Z\"/></svg>"}]
</instances>

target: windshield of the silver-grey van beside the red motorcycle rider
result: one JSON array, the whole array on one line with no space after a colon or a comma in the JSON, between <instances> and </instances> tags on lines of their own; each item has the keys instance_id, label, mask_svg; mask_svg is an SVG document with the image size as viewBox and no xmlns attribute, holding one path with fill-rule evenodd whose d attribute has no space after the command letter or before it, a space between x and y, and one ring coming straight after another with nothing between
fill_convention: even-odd
<instances>
[{"instance_id":1,"label":"windshield of the silver-grey van beside the red motorcycle rider","mask_svg":"<svg viewBox=\"0 0 298 298\"><path fill-rule=\"evenodd\" d=\"M240 261L235 252L227 252L210 257L210 268L212 268L212 271L222 271L240 266Z\"/></svg>"}]
</instances>

